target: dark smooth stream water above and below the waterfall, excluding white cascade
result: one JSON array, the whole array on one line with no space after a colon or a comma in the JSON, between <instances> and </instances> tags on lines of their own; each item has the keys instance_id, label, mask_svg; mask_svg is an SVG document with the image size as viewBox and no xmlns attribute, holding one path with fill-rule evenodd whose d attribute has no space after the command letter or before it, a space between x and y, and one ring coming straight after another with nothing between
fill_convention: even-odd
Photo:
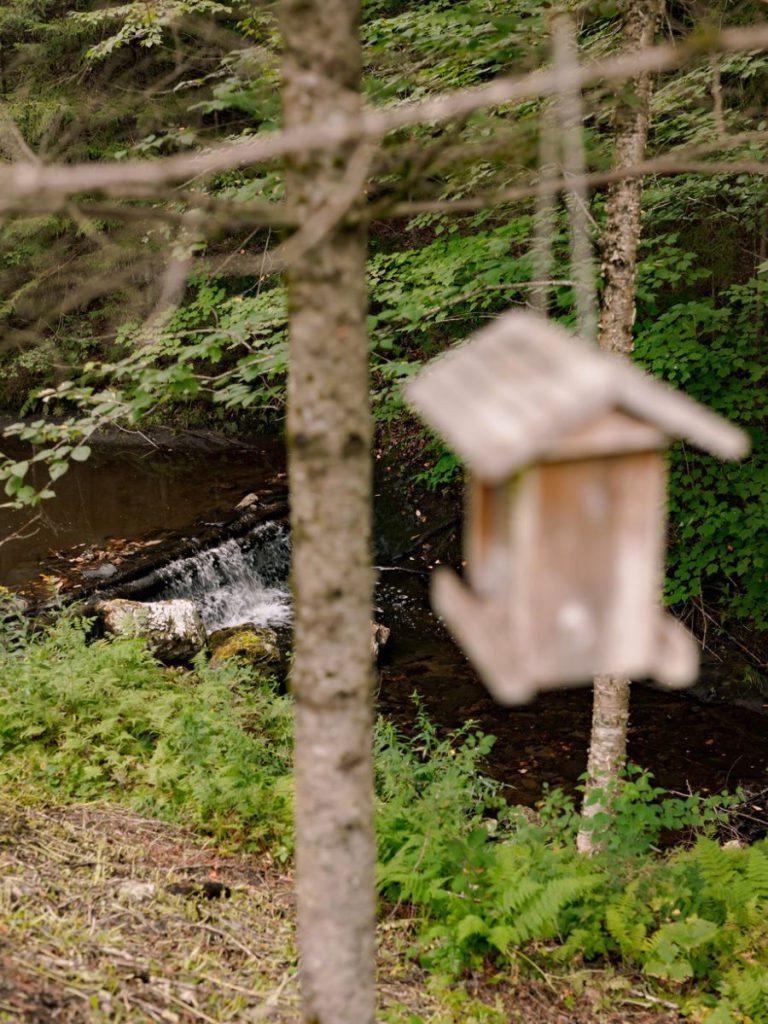
<instances>
[{"instance_id":1,"label":"dark smooth stream water above and below the waterfall, excluding white cascade","mask_svg":"<svg viewBox=\"0 0 768 1024\"><path fill-rule=\"evenodd\" d=\"M516 709L490 700L429 610L428 573L418 560L392 564L414 537L445 519L445 509L438 503L416 509L404 492L389 482L396 474L388 475L382 465L379 469L377 605L378 617L392 629L381 669L381 710L408 730L414 723L412 695L417 692L442 727L474 719L498 737L488 767L509 784L516 800L536 801L545 781L572 786L586 766L591 692L550 692ZM245 494L266 493L284 483L282 451L271 439L243 450L197 435L156 447L135 437L99 445L87 463L73 466L58 481L57 497L46 504L41 521L23 530L23 538L0 546L0 583L24 584L46 571L55 562L54 553L65 549L99 548L121 539L162 540L183 532L201 517L217 521ZM27 518L0 511L0 539ZM453 526L446 532L455 531ZM231 562L222 559L221 564L226 572ZM203 566L206 571L210 567ZM205 579L205 571L197 578ZM274 614L273 598L269 595L269 601L253 606L268 606ZM278 603L280 599L278 594ZM766 786L764 715L643 685L633 687L632 700L630 756L664 785L713 791L745 784L756 792ZM762 810L759 805L756 814Z\"/></svg>"}]
</instances>

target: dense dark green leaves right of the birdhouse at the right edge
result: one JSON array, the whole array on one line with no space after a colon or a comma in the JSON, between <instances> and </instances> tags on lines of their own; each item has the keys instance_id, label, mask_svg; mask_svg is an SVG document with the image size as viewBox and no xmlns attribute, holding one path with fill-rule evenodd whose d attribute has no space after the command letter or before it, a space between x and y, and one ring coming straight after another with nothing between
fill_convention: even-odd
<instances>
[{"instance_id":1,"label":"dense dark green leaves right of the birdhouse at the right edge","mask_svg":"<svg viewBox=\"0 0 768 1024\"><path fill-rule=\"evenodd\" d=\"M670 273L687 272L686 257L692 254L671 247L662 251ZM654 261L659 259L656 254ZM768 622L768 400L761 338L767 289L755 278L733 285L717 300L680 301L660 313L646 298L636 344L638 359L652 373L734 420L751 433L754 446L750 459L726 466L686 445L675 446L667 599L676 603L714 594L721 607L762 627Z\"/></svg>"}]
</instances>

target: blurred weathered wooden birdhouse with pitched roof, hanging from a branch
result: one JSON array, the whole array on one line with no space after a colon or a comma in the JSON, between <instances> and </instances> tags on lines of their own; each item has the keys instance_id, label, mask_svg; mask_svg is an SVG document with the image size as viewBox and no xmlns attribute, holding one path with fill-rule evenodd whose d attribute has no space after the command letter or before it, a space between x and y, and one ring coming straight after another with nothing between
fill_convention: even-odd
<instances>
[{"instance_id":1,"label":"blurred weathered wooden birdhouse with pitched roof, hanging from a branch","mask_svg":"<svg viewBox=\"0 0 768 1024\"><path fill-rule=\"evenodd\" d=\"M722 459L746 436L541 316L511 311L407 386L465 463L466 580L432 599L503 703L598 674L695 678L698 648L662 608L674 438Z\"/></svg>"}]
</instances>

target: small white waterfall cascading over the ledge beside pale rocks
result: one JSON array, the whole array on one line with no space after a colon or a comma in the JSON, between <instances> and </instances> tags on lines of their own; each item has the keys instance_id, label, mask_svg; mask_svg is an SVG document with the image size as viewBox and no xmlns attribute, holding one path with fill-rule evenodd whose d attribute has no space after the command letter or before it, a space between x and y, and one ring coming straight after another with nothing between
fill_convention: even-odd
<instances>
[{"instance_id":1,"label":"small white waterfall cascading over the ledge beside pale rocks","mask_svg":"<svg viewBox=\"0 0 768 1024\"><path fill-rule=\"evenodd\" d=\"M242 623L282 626L291 620L290 561L287 526L264 523L247 537L169 562L160 573L162 596L195 601L209 632Z\"/></svg>"}]
</instances>

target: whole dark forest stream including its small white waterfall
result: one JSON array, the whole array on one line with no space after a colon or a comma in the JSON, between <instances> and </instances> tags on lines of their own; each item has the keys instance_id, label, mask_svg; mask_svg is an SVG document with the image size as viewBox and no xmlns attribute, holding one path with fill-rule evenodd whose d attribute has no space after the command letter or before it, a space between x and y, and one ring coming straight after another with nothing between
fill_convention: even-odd
<instances>
[{"instance_id":1,"label":"whole dark forest stream including its small white waterfall","mask_svg":"<svg viewBox=\"0 0 768 1024\"><path fill-rule=\"evenodd\" d=\"M216 524L246 494L268 502L279 488L285 488L283 456L270 438L242 447L204 432L160 441L153 435L153 443L143 435L110 438L57 482L57 496L39 520L29 523L29 514L0 510L0 583L24 589L41 573L55 581L67 566L94 559L99 571L112 571L135 549L161 546L196 522ZM509 786L510 799L534 803L544 783L572 788L586 767L591 691L551 691L521 708L494 703L430 610L424 558L394 557L430 525L450 523L451 510L435 496L420 498L416 508L386 460L377 463L376 490L376 617L392 631L380 668L380 711L408 732L418 694L440 728L475 721L497 737L487 767ZM443 548L456 551L457 528L442 530ZM437 541L422 547L432 560L442 550ZM287 528L266 522L170 561L159 573L157 593L194 598L209 630L243 622L289 629L289 564ZM705 662L706 678L725 671ZM707 686L696 693L706 695ZM633 686L632 760L675 791L739 784L763 791L768 719L759 713L761 698L744 693L750 707ZM756 805L756 813L762 810Z\"/></svg>"}]
</instances>

